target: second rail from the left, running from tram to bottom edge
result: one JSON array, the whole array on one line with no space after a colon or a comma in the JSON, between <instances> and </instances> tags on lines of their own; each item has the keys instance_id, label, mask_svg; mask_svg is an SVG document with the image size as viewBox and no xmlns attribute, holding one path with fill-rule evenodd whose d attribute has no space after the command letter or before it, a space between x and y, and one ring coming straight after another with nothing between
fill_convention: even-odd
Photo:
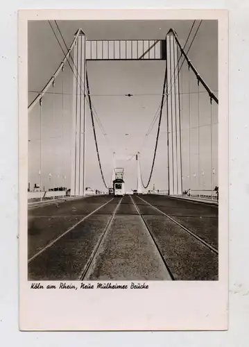
<instances>
[{"instance_id":1,"label":"second rail from the left, running from tram to bottom edge","mask_svg":"<svg viewBox=\"0 0 249 347\"><path fill-rule=\"evenodd\" d=\"M94 250L92 251L92 255L89 257L87 264L85 264L85 267L83 269L83 272L80 274L80 277L78 280L84 280L89 272L91 271L92 264L94 264L94 260L96 257L98 257L98 250L101 248L101 244L103 243L103 240L105 239L105 236L108 234L108 231L110 230L112 223L114 221L114 218L116 216L117 210L119 209L119 206L121 205L121 201L123 198L119 200L119 203L117 204L116 208L112 212L112 217L109 219L107 225L105 226L105 230L103 231L101 237L98 239L98 242L96 246L94 247Z\"/></svg>"}]
</instances>

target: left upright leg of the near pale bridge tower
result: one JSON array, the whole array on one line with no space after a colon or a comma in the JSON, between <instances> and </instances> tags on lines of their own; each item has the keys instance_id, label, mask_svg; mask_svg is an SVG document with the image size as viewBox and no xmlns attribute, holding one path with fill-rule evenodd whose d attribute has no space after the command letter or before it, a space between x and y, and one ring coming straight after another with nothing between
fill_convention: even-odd
<instances>
[{"instance_id":1,"label":"left upright leg of the near pale bridge tower","mask_svg":"<svg viewBox=\"0 0 249 347\"><path fill-rule=\"evenodd\" d=\"M85 41L78 36L73 52L73 110L71 143L71 196L85 195Z\"/></svg>"}]
</instances>

